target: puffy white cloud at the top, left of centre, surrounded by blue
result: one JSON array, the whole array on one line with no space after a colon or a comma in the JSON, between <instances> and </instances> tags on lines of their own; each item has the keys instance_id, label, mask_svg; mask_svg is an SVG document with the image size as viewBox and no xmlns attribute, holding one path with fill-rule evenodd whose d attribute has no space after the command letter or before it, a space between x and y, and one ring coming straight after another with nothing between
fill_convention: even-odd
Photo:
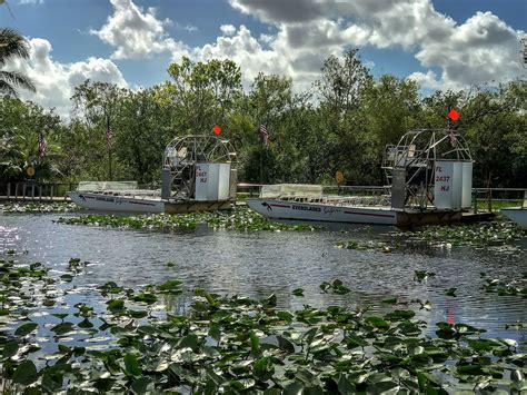
<instances>
[{"instance_id":1,"label":"puffy white cloud at the top, left of centre, surrounded by blue","mask_svg":"<svg viewBox=\"0 0 527 395\"><path fill-rule=\"evenodd\" d=\"M146 11L132 0L110 0L113 14L99 30L90 33L116 48L112 59L145 59L155 53L187 52L188 48L180 41L170 38L165 27L171 20L159 20L156 10Z\"/></svg>"}]
</instances>

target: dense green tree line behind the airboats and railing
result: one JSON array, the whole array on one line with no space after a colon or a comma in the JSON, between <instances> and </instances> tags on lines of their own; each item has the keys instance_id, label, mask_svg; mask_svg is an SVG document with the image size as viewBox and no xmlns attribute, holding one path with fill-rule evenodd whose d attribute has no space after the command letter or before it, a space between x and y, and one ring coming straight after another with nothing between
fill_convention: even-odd
<instances>
[{"instance_id":1,"label":"dense green tree line behind the airboats and railing","mask_svg":"<svg viewBox=\"0 0 527 395\"><path fill-rule=\"evenodd\" d=\"M291 79L265 73L246 91L230 60L183 58L168 67L168 77L139 90L86 80L74 88L68 120L3 92L0 179L28 179L33 167L39 180L107 180L111 165L113 180L152 185L173 137L211 134L219 125L237 150L239 180L259 182L261 164L264 184L335 184L341 171L348 185L382 185L385 146L411 129L445 128L448 109L456 108L476 161L475 186L526 186L525 80L422 96L415 81L374 78L356 49L326 59L316 82L300 92Z\"/></svg>"}]
</instances>

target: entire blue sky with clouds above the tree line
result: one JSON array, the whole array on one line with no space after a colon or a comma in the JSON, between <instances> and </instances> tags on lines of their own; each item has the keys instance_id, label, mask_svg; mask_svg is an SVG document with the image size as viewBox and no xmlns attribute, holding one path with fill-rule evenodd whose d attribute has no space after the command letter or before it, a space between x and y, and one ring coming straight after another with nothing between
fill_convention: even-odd
<instances>
[{"instance_id":1,"label":"entire blue sky with clouds above the tree line","mask_svg":"<svg viewBox=\"0 0 527 395\"><path fill-rule=\"evenodd\" d=\"M64 117L87 78L151 87L183 56L236 61L246 89L260 71L308 89L327 57L350 48L375 77L410 78L424 92L527 77L527 0L4 1L0 27L23 34L31 53L4 69L36 82L21 98Z\"/></svg>"}]
</instances>

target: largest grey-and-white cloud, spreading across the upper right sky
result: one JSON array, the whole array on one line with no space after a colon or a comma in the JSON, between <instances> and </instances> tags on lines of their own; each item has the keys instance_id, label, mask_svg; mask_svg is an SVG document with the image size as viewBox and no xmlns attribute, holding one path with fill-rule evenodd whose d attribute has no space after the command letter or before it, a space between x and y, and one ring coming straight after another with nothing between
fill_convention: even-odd
<instances>
[{"instance_id":1,"label":"largest grey-and-white cloud, spreading across the upper right sky","mask_svg":"<svg viewBox=\"0 0 527 395\"><path fill-rule=\"evenodd\" d=\"M267 39L278 56L287 55L292 73L317 71L329 53L349 46L400 48L425 68L411 78L427 87L463 88L525 75L519 40L525 34L491 12L477 12L463 23L437 12L430 0L230 0L236 9L272 23Z\"/></svg>"}]
</instances>

